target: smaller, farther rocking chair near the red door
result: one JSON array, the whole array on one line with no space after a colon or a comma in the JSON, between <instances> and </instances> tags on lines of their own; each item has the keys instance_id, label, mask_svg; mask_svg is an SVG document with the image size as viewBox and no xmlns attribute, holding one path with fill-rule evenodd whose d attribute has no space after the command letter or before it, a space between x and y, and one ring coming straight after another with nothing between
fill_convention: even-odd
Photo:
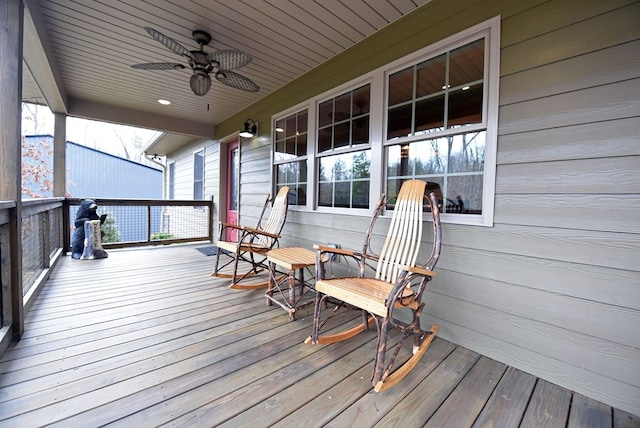
<instances>
[{"instance_id":1,"label":"smaller, farther rocking chair near the red door","mask_svg":"<svg viewBox=\"0 0 640 428\"><path fill-rule=\"evenodd\" d=\"M265 269L268 269L266 261L267 253L272 248L278 247L280 232L282 232L284 222L287 218L287 210L289 208L287 199L288 192L289 187L284 186L280 188L273 201L271 196L267 196L267 200L264 203L264 207L262 208L262 213L260 214L260 219L258 220L256 227L220 222L216 265L211 276L231 278L231 285L229 285L230 288L250 290L269 285L268 278L259 283L240 284L240 282L257 275ZM273 205L269 212L269 218L263 225L263 217L271 202L273 202ZM237 242L227 240L227 231L229 230L237 231ZM221 257L226 257L227 259L221 263ZM240 261L248 263L250 265L250 269L244 273L238 273L238 263ZM222 270L228 266L231 266L232 273L223 273Z\"/></svg>"}]
</instances>

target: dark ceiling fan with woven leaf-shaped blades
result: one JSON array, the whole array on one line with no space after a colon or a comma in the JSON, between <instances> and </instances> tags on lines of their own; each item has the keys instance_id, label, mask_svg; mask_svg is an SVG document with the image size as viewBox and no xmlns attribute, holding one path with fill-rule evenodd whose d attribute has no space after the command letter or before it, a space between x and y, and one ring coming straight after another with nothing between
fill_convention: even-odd
<instances>
[{"instance_id":1,"label":"dark ceiling fan with woven leaf-shaped blades","mask_svg":"<svg viewBox=\"0 0 640 428\"><path fill-rule=\"evenodd\" d=\"M209 92L211 88L210 74L213 74L220 83L232 88L247 92L258 92L260 90L260 87L251 79L231 71L249 64L253 59L251 55L236 50L205 52L203 47L211 41L211 35L206 31L193 31L191 35L193 40L200 45L200 49L190 51L158 30L151 27L144 27L144 29L166 48L187 58L189 67L193 70L189 83L194 94L203 96ZM147 62L133 64L131 67L142 70L182 70L185 68L183 64L173 62Z\"/></svg>"}]
</instances>

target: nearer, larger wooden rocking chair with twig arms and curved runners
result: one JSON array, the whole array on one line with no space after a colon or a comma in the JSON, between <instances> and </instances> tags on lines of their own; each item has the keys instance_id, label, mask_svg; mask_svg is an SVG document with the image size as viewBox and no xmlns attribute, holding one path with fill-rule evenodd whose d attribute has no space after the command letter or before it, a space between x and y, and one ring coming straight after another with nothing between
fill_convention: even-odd
<instances>
[{"instance_id":1,"label":"nearer, larger wooden rocking chair with twig arms and curved runners","mask_svg":"<svg viewBox=\"0 0 640 428\"><path fill-rule=\"evenodd\" d=\"M420 180L409 180L403 183L380 255L372 252L370 241L375 222L387 204L385 195L378 201L361 253L316 246L318 260L330 253L352 257L358 260L359 272L357 277L327 279L324 265L319 262L316 264L317 298L313 330L305 343L333 343L345 340L367 330L375 321L378 344L371 380L376 392L383 391L404 378L418 363L438 331L438 326L435 324L429 331L422 330L420 327L420 315L424 307L422 297L427 283L435 276L433 269L440 256L442 234L438 200L435 193L425 198L425 187L426 183ZM429 259L424 264L416 266L422 240L422 213L425 199L428 200L433 217L433 248ZM366 270L372 269L373 264L376 265L375 277L365 277ZM321 319L321 309L326 307L329 301L338 303L327 317ZM321 336L320 329L341 307L361 309L362 324L342 333ZM408 324L399 320L397 314L394 314L394 311L403 307L412 312L413 320ZM395 350L385 367L387 334L390 328L400 332L400 340L396 343ZM392 372L403 341L410 337L413 338L413 356Z\"/></svg>"}]
</instances>

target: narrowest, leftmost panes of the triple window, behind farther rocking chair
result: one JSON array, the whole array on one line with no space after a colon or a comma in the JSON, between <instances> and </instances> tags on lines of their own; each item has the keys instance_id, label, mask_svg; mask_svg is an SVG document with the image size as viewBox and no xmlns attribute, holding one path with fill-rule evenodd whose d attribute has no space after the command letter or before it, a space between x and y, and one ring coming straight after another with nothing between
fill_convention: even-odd
<instances>
[{"instance_id":1,"label":"narrowest, leftmost panes of the triple window, behind farther rocking chair","mask_svg":"<svg viewBox=\"0 0 640 428\"><path fill-rule=\"evenodd\" d=\"M307 204L308 122L307 109L275 122L276 193L281 187L289 186L289 205Z\"/></svg>"}]
</instances>

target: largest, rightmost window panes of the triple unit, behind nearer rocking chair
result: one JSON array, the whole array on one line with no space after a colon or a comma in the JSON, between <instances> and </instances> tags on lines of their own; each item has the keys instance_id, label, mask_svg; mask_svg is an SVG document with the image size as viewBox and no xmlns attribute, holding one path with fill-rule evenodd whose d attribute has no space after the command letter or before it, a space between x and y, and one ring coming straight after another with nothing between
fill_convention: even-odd
<instances>
[{"instance_id":1,"label":"largest, rightmost window panes of the triple unit, behind nearer rocking chair","mask_svg":"<svg viewBox=\"0 0 640 428\"><path fill-rule=\"evenodd\" d=\"M485 37L389 74L387 193L419 178L441 212L482 214L487 122Z\"/></svg>"}]
</instances>

